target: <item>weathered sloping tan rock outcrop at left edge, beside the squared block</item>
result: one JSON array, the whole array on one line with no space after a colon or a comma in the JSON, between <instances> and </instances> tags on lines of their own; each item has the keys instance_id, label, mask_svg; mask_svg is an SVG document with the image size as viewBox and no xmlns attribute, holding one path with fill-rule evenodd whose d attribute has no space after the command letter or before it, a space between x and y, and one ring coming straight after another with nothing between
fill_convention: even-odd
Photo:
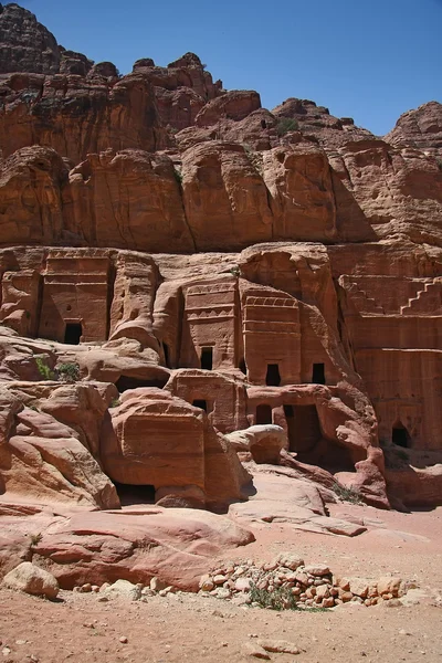
<instances>
[{"instance_id":1,"label":"weathered sloping tan rock outcrop at left edge, beside the squared block","mask_svg":"<svg viewBox=\"0 0 442 663\"><path fill-rule=\"evenodd\" d=\"M0 399L0 494L31 504L119 507L94 459L106 411L94 387L15 383L3 386Z\"/></svg>"}]
</instances>

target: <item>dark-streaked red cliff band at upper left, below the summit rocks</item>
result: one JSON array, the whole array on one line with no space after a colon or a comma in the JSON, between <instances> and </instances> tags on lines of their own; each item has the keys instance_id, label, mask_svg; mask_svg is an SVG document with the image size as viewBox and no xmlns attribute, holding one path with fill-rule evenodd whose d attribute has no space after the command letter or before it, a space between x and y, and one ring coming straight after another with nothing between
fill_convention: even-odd
<instances>
[{"instance_id":1,"label":"dark-streaked red cliff band at upper left, below the summit rocks","mask_svg":"<svg viewBox=\"0 0 442 663\"><path fill-rule=\"evenodd\" d=\"M3 156L44 145L73 165L108 148L154 151L167 146L151 85L140 74L85 78L12 74L0 85Z\"/></svg>"}]
</instances>

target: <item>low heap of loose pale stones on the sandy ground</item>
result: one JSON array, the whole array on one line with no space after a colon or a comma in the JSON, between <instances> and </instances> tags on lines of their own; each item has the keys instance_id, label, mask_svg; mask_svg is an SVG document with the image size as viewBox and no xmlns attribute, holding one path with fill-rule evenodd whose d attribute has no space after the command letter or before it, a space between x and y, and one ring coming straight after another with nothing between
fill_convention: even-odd
<instances>
[{"instance_id":1,"label":"low heap of loose pale stones on the sandy ground","mask_svg":"<svg viewBox=\"0 0 442 663\"><path fill-rule=\"evenodd\" d=\"M400 606L400 597L411 587L399 577L383 577L378 581L338 577L328 566L305 565L297 555L281 554L262 566L255 566L250 559L224 564L201 577L199 593L257 607L255 590L265 590L285 597L292 594L295 601L288 601L287 607L295 603L298 608L334 608L350 601L362 606L386 601Z\"/></svg>"}]
</instances>

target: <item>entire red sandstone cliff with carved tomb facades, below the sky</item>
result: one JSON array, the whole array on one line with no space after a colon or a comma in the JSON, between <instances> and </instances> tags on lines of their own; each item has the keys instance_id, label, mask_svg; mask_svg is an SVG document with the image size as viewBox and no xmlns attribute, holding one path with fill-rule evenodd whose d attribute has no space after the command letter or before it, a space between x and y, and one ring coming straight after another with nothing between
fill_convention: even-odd
<instances>
[{"instance_id":1,"label":"entire red sandstone cliff with carved tomb facades, below the sky","mask_svg":"<svg viewBox=\"0 0 442 663\"><path fill-rule=\"evenodd\" d=\"M225 508L250 477L222 433L276 424L286 449L257 460L319 485L288 491L299 508L336 481L376 506L440 502L441 105L379 139L313 102L263 109L192 53L119 77L1 9L4 498L117 507L113 480ZM42 382L63 364L77 385ZM287 516L261 478L233 516ZM92 575L135 578L134 546Z\"/></svg>"}]
</instances>

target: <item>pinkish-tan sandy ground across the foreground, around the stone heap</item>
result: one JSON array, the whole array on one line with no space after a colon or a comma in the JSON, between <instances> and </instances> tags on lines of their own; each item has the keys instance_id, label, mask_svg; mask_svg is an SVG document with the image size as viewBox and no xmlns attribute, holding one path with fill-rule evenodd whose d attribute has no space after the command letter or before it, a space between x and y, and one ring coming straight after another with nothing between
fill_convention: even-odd
<instances>
[{"instance_id":1,"label":"pinkish-tan sandy ground across the foreground, around the stone heap","mask_svg":"<svg viewBox=\"0 0 442 663\"><path fill-rule=\"evenodd\" d=\"M415 580L427 598L409 607L278 613L196 594L104 603L97 594L63 591L60 601L50 602L3 589L0 663L251 663L256 659L246 652L248 643L260 639L283 639L299 648L298 655L269 654L280 663L442 662L442 608L434 600L442 593L442 507L398 514L340 504L330 511L368 518L372 528L349 539L263 525L254 530L256 541L233 550L229 559L261 561L292 550L346 576L401 575Z\"/></svg>"}]
</instances>

